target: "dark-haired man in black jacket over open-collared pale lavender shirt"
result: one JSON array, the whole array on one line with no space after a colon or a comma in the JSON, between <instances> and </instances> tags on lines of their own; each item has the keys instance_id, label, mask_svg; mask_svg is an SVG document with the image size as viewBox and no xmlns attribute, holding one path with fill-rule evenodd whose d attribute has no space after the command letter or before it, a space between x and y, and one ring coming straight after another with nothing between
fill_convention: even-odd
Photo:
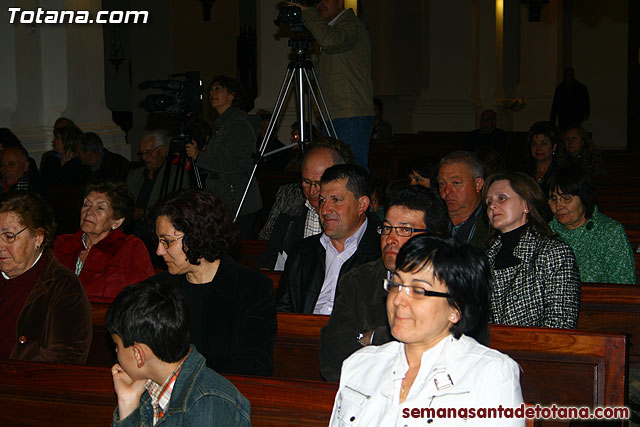
<instances>
[{"instance_id":1,"label":"dark-haired man in black jacket over open-collared pale lavender shirt","mask_svg":"<svg viewBox=\"0 0 640 427\"><path fill-rule=\"evenodd\" d=\"M335 165L320 179L324 232L293 247L278 286L278 310L331 314L338 279L380 257L376 224L367 218L373 184L356 165Z\"/></svg>"}]
</instances>

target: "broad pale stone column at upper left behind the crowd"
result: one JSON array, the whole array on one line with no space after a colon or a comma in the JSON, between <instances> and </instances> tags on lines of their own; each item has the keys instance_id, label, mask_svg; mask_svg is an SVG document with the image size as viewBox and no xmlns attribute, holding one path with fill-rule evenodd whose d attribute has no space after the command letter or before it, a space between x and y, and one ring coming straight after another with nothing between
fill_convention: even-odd
<instances>
[{"instance_id":1,"label":"broad pale stone column at upper left behind the crowd","mask_svg":"<svg viewBox=\"0 0 640 427\"><path fill-rule=\"evenodd\" d=\"M95 16L101 4L101 0L50 0L43 5L32 0L16 2L16 7L34 11L38 7L82 9ZM0 69L7 77L2 84L15 92L8 90L7 99L0 101L4 102L0 104L0 123L16 133L36 161L51 149L53 122L62 115L82 130L99 134L110 150L129 157L124 132L113 123L105 106L102 26L8 22L0 22L0 53L15 60L6 61Z\"/></svg>"}]
</instances>

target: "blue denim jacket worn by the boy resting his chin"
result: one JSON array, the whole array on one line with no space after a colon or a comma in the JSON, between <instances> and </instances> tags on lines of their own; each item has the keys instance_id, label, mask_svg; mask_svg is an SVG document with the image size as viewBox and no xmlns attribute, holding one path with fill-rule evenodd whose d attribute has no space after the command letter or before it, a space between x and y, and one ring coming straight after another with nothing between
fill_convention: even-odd
<instances>
[{"instance_id":1,"label":"blue denim jacket worn by the boy resting his chin","mask_svg":"<svg viewBox=\"0 0 640 427\"><path fill-rule=\"evenodd\" d=\"M247 399L221 375L207 368L204 357L191 346L173 387L169 407L157 426L251 426L251 406ZM151 427L153 407L146 391L140 406L127 418L118 421L118 408L112 427Z\"/></svg>"}]
</instances>

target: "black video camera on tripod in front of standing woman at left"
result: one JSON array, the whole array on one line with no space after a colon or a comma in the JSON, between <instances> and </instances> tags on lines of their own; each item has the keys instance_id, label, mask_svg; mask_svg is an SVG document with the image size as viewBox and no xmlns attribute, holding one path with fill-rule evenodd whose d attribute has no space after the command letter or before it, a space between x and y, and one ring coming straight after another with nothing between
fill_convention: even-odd
<instances>
[{"instance_id":1,"label":"black video camera on tripod in front of standing woman at left","mask_svg":"<svg viewBox=\"0 0 640 427\"><path fill-rule=\"evenodd\" d=\"M165 173L162 180L161 194L168 191L171 165L177 157L178 173L174 175L173 190L182 187L185 170L185 145L193 137L192 125L202 112L202 94L204 92L199 71L188 71L172 74L168 80L146 80L138 85L138 89L160 89L162 94L147 95L145 110L150 113L167 113L174 120L176 137L171 140L167 156ZM201 148L201 147L200 147ZM198 166L190 159L198 188L202 188Z\"/></svg>"}]
</instances>

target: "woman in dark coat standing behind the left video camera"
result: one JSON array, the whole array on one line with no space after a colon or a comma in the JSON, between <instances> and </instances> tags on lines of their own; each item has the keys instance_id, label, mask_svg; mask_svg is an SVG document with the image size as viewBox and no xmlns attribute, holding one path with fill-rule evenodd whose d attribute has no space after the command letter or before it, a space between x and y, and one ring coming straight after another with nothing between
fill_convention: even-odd
<instances>
[{"instance_id":1,"label":"woman in dark coat standing behind the left video camera","mask_svg":"<svg viewBox=\"0 0 640 427\"><path fill-rule=\"evenodd\" d=\"M235 214L244 189L249 183L256 152L256 129L242 103L240 82L226 76L215 76L209 89L211 106L218 112L213 136L202 151L195 143L187 144L187 155L198 160L198 167L207 172L206 187ZM236 224L241 239L253 239L253 226L262 209L260 189L251 179L249 192L242 204Z\"/></svg>"}]
</instances>

